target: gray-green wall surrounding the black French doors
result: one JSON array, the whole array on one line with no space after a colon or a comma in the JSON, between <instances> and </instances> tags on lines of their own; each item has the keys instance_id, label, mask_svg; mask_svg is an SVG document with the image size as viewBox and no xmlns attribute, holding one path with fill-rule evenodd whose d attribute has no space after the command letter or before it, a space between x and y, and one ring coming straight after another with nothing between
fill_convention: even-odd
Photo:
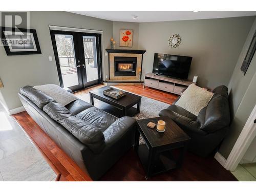
<instances>
[{"instance_id":1,"label":"gray-green wall surrounding the black French doors","mask_svg":"<svg viewBox=\"0 0 256 192\"><path fill-rule=\"evenodd\" d=\"M7 56L4 48L0 47L0 77L4 83L0 92L8 110L22 105L17 96L20 87L59 84L49 25L103 30L103 50L110 48L112 21L60 11L30 12L30 27L37 31L42 54ZM49 61L48 56L53 56L53 61ZM108 65L108 57L103 56L103 63ZM105 74L108 74L108 67L104 69Z\"/></svg>"}]
</instances>

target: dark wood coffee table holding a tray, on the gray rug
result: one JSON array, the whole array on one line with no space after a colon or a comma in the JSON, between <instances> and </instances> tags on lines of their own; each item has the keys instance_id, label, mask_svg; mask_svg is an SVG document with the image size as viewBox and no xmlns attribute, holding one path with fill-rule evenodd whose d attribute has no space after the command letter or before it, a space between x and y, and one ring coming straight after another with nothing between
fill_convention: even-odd
<instances>
[{"instance_id":1,"label":"dark wood coffee table holding a tray, on the gray rug","mask_svg":"<svg viewBox=\"0 0 256 192\"><path fill-rule=\"evenodd\" d=\"M137 113L140 113L141 96L125 92L125 96L119 99L114 99L103 94L103 91L109 88L111 87L105 86L100 89L90 91L91 104L94 105L94 98L99 99L100 101L103 101L107 104L97 103L95 106L117 117L133 117ZM135 104L137 104L137 108L133 107Z\"/></svg>"}]
</instances>

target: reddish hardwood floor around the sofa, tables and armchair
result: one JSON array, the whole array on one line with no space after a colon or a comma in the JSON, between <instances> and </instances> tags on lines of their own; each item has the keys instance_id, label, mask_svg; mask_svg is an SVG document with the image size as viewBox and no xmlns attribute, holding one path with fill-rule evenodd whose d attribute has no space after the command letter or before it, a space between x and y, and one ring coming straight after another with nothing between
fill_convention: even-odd
<instances>
[{"instance_id":1,"label":"reddish hardwood floor around the sofa, tables and armchair","mask_svg":"<svg viewBox=\"0 0 256 192\"><path fill-rule=\"evenodd\" d=\"M89 101L89 91L103 85L76 92L80 99ZM150 97L171 104L178 96L164 93L142 86L116 86L135 94ZM46 157L59 181L91 181L76 163L69 158L52 140L40 129L27 112L13 115L24 131L38 146ZM222 167L213 157L200 158L191 153L186 154L184 164L180 169L149 178L150 181L236 181L237 179ZM101 178L101 181L145 181L144 170L137 154L131 148L117 163Z\"/></svg>"}]
</instances>

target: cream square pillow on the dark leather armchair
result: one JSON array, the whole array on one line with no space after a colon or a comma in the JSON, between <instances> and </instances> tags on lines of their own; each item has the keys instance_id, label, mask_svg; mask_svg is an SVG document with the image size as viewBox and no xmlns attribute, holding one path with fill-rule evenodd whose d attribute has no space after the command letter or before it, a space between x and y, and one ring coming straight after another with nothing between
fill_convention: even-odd
<instances>
[{"instance_id":1,"label":"cream square pillow on the dark leather armchair","mask_svg":"<svg viewBox=\"0 0 256 192\"><path fill-rule=\"evenodd\" d=\"M213 95L213 93L210 93L195 84L190 84L175 104L198 116L201 109L207 106Z\"/></svg>"}]
</instances>

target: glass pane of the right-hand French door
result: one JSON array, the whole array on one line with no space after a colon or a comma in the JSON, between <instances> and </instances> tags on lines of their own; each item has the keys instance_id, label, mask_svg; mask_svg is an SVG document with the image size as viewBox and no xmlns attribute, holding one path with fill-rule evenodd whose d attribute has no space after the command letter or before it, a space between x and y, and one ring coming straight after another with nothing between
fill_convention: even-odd
<instances>
[{"instance_id":1,"label":"glass pane of the right-hand French door","mask_svg":"<svg viewBox=\"0 0 256 192\"><path fill-rule=\"evenodd\" d=\"M96 51L96 37L83 36L84 59L86 60L87 82L97 80L98 63Z\"/></svg>"}]
</instances>

